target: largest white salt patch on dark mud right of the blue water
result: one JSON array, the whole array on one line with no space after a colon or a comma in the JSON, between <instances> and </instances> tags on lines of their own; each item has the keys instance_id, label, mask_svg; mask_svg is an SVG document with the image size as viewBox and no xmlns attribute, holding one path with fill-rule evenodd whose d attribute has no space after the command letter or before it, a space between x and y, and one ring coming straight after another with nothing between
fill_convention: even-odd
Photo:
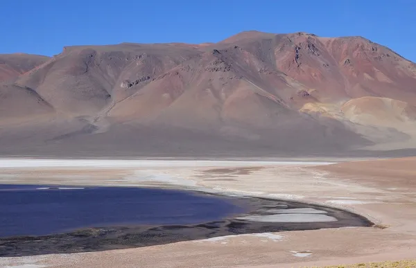
<instances>
[{"instance_id":1,"label":"largest white salt patch on dark mud right of the blue water","mask_svg":"<svg viewBox=\"0 0 416 268\"><path fill-rule=\"evenodd\" d=\"M239 220L250 220L252 222L336 222L335 217L322 214L277 214L277 215L249 215L238 217Z\"/></svg>"}]
</instances>

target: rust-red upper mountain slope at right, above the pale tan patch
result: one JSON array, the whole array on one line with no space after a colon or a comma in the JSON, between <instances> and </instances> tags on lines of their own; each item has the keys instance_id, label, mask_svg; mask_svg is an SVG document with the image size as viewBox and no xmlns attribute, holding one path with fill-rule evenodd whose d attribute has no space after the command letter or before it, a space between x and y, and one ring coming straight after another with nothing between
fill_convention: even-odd
<instances>
[{"instance_id":1,"label":"rust-red upper mountain slope at right, above the pale tan patch","mask_svg":"<svg viewBox=\"0 0 416 268\"><path fill-rule=\"evenodd\" d=\"M249 32L250 33L250 32ZM318 37L308 33L232 37L246 50L275 64L322 101L385 96L416 101L416 64L363 37Z\"/></svg>"}]
</instances>

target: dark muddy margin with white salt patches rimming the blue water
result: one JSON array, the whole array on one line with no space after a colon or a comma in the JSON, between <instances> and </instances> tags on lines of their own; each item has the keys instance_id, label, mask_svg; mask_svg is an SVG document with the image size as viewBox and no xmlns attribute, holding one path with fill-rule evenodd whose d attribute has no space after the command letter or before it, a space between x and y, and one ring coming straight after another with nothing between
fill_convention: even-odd
<instances>
[{"instance_id":1,"label":"dark muddy margin with white salt patches rimming the blue water","mask_svg":"<svg viewBox=\"0 0 416 268\"><path fill-rule=\"evenodd\" d=\"M38 184L36 186L42 185ZM54 188L55 186L49 187ZM96 188L97 186L93 187ZM104 187L117 188L114 186ZM78 186L73 185L71 188L78 188ZM101 187L98 186L98 188ZM0 238L0 249L3 248L3 250L0 250L0 257L130 249L194 240L214 241L220 240L223 237L229 237L230 235L260 235L261 233L279 233L282 231L374 226L370 220L367 220L367 218L361 215L327 206L265 197L230 197L229 195L207 193L201 190L180 189L180 191L189 193L190 195L223 198L225 202L231 202L239 207L241 207L241 204L244 204L245 212L231 213L222 220L200 222L198 224L113 224L112 226L78 228L69 233L5 237ZM311 212L305 211L302 213L304 208L307 208L306 211ZM280 213L277 211L280 211ZM294 214L291 214L292 211ZM297 216L294 218L294 222L291 220L293 216ZM250 217L256 217L259 220L246 220ZM279 217L281 220L277 220ZM325 220L320 220L319 217L325 217ZM270 221L263 220L268 218L270 218ZM301 222L297 222L297 218ZM336 219L336 221L332 222L331 220L327 220L330 218Z\"/></svg>"}]
</instances>

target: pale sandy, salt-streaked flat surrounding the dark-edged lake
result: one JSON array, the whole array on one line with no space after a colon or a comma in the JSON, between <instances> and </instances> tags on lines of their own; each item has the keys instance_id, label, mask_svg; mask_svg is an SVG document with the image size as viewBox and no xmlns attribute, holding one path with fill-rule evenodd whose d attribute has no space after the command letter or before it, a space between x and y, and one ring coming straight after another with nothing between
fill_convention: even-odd
<instances>
[{"instance_id":1,"label":"pale sandy, salt-streaked flat surrounding the dark-edged lake","mask_svg":"<svg viewBox=\"0 0 416 268\"><path fill-rule=\"evenodd\" d=\"M300 267L416 257L416 159L333 165L103 161L0 159L0 184L198 188L336 206L388 228L238 235L139 249L0 258L0 267Z\"/></svg>"}]
</instances>

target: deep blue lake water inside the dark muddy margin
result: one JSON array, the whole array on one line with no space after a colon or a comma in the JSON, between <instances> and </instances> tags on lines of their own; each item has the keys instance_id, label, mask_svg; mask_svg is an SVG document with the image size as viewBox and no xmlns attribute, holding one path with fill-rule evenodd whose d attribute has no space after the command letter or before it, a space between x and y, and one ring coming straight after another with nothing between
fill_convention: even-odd
<instances>
[{"instance_id":1,"label":"deep blue lake water inside the dark muddy margin","mask_svg":"<svg viewBox=\"0 0 416 268\"><path fill-rule=\"evenodd\" d=\"M245 211L229 199L180 190L37 189L44 187L0 185L0 237L101 226L197 224Z\"/></svg>"}]
</instances>

